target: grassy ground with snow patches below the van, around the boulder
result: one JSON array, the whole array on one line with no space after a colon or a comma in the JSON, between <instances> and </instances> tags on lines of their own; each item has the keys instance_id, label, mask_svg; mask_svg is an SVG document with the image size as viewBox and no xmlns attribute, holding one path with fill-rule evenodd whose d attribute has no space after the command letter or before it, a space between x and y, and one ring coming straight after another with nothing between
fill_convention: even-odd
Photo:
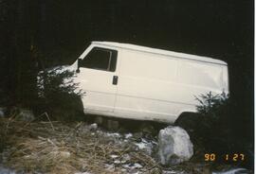
<instances>
[{"instance_id":1,"label":"grassy ground with snow patches below the van, around the boulder","mask_svg":"<svg viewBox=\"0 0 256 174\"><path fill-rule=\"evenodd\" d=\"M17 173L208 174L223 169L222 165L212 168L198 161L197 151L190 162L159 165L157 137L145 128L137 132L109 131L95 123L25 122L14 118L1 118L0 126L2 164Z\"/></svg>"}]
</instances>

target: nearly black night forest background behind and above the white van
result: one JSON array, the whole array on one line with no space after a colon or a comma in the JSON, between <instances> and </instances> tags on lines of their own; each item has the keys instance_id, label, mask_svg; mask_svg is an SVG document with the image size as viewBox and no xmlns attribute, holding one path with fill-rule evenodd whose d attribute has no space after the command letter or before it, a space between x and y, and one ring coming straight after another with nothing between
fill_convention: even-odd
<instances>
[{"instance_id":1,"label":"nearly black night forest background behind and above the white van","mask_svg":"<svg viewBox=\"0 0 256 174\"><path fill-rule=\"evenodd\" d=\"M136 43L229 63L237 136L253 140L253 1L0 0L0 100L33 107L43 68L91 41Z\"/></svg>"}]
</instances>

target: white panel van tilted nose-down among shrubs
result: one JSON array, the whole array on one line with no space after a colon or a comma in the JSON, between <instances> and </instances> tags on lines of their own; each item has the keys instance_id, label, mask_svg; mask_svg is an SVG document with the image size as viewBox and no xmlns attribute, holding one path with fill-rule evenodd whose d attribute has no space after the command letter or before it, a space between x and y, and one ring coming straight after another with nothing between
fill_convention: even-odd
<instances>
[{"instance_id":1,"label":"white panel van tilted nose-down among shrubs","mask_svg":"<svg viewBox=\"0 0 256 174\"><path fill-rule=\"evenodd\" d=\"M90 114L174 123L195 96L229 93L226 62L134 44L92 42L71 67Z\"/></svg>"}]
</instances>

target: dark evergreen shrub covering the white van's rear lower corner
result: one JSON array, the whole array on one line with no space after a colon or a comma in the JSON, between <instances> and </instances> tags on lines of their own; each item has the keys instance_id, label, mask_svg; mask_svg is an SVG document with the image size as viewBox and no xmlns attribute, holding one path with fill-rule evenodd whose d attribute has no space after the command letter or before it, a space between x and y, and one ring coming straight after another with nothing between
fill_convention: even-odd
<instances>
[{"instance_id":1,"label":"dark evergreen shrub covering the white van's rear lower corner","mask_svg":"<svg viewBox=\"0 0 256 174\"><path fill-rule=\"evenodd\" d=\"M229 115L232 114L229 96L224 93L214 96L210 92L196 96L196 100L200 103L196 108L201 116L195 132L201 137L205 148L223 152L230 150L232 144L229 141L233 132L230 123L232 120L229 120Z\"/></svg>"}]
</instances>

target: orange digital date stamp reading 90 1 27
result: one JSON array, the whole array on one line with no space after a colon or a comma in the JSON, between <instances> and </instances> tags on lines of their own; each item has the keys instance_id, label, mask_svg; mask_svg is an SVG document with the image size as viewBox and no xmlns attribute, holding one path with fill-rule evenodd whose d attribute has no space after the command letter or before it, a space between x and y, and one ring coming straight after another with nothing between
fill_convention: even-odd
<instances>
[{"instance_id":1,"label":"orange digital date stamp reading 90 1 27","mask_svg":"<svg viewBox=\"0 0 256 174\"><path fill-rule=\"evenodd\" d=\"M229 153L224 155L217 155L215 153L205 153L205 162L214 162L216 160L224 160L227 162L242 162L245 161L245 157L246 156L244 153Z\"/></svg>"}]
</instances>

